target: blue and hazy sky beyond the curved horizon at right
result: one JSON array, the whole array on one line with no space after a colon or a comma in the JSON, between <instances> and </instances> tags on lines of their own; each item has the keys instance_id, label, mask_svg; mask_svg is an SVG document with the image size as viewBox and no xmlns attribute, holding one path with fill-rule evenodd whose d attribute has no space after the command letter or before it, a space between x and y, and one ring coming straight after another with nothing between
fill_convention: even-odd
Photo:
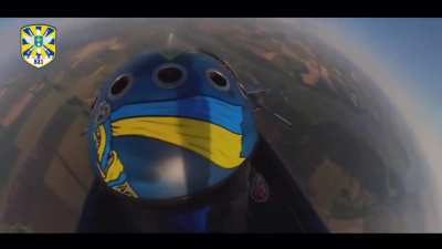
<instances>
[{"instance_id":1,"label":"blue and hazy sky beyond the curved horizon at right","mask_svg":"<svg viewBox=\"0 0 442 249\"><path fill-rule=\"evenodd\" d=\"M442 19L312 19L312 30L347 55L390 97L430 165L442 210ZM430 208L430 207L429 207ZM440 211L438 211L441 215ZM442 216L429 217L442 231Z\"/></svg>"}]
</instances>

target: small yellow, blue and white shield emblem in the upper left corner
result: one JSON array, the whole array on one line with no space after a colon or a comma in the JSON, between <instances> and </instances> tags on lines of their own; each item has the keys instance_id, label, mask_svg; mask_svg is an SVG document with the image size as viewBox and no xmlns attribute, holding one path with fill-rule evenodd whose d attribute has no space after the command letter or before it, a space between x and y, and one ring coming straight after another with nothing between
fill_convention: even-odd
<instances>
[{"instance_id":1,"label":"small yellow, blue and white shield emblem in the upper left corner","mask_svg":"<svg viewBox=\"0 0 442 249\"><path fill-rule=\"evenodd\" d=\"M56 29L46 24L24 25L20 29L21 56L38 69L55 58Z\"/></svg>"}]
</instances>

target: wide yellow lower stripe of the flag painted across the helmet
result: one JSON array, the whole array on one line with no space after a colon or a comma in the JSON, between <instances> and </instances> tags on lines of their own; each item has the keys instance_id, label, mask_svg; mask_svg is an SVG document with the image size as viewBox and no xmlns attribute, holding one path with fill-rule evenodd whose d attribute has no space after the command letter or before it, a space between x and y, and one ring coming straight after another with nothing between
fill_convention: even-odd
<instances>
[{"instance_id":1,"label":"wide yellow lower stripe of the flag painted across the helmet","mask_svg":"<svg viewBox=\"0 0 442 249\"><path fill-rule=\"evenodd\" d=\"M186 117L144 116L116 121L113 136L143 136L190 149L222 168L240 166L242 135L219 125Z\"/></svg>"}]
</instances>

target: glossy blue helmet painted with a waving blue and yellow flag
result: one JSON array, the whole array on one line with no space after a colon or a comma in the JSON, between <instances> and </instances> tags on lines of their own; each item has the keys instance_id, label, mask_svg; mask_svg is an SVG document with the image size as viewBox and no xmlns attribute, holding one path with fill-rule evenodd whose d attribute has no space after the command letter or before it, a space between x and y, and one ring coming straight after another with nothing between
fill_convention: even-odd
<instances>
[{"instance_id":1,"label":"glossy blue helmet painted with a waving blue and yellow flag","mask_svg":"<svg viewBox=\"0 0 442 249\"><path fill-rule=\"evenodd\" d=\"M234 73L201 52L146 53L98 91L88 141L92 166L115 193L169 200L229 180L257 142Z\"/></svg>"}]
</instances>

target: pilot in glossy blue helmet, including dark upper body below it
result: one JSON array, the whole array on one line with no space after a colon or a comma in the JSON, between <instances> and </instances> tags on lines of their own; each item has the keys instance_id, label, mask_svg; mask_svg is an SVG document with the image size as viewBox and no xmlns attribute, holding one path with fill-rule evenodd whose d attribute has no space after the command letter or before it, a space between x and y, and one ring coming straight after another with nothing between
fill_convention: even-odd
<instances>
[{"instance_id":1,"label":"pilot in glossy blue helmet, including dark upper body below it","mask_svg":"<svg viewBox=\"0 0 442 249\"><path fill-rule=\"evenodd\" d=\"M78 231L246 229L252 107L204 52L141 54L105 82L87 138L96 180Z\"/></svg>"}]
</instances>

